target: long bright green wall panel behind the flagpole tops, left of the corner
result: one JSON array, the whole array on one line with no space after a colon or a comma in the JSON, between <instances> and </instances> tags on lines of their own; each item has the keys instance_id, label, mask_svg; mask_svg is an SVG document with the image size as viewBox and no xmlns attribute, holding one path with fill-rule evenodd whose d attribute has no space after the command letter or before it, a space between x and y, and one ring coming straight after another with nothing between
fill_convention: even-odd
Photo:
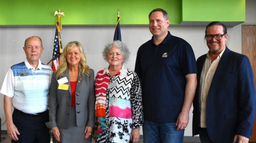
<instances>
[{"instance_id":1,"label":"long bright green wall panel behind the flagpole tops, left of the corner","mask_svg":"<svg viewBox=\"0 0 256 143\"><path fill-rule=\"evenodd\" d=\"M148 24L159 7L172 24L180 23L180 0L0 0L0 25L54 25L58 9L65 13L63 25L113 25L118 7L120 24Z\"/></svg>"}]
</instances>

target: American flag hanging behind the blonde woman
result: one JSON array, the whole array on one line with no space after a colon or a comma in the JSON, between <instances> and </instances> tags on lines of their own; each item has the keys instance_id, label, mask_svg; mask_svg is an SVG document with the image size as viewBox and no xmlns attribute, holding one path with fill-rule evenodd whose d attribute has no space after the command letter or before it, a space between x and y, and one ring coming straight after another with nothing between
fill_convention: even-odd
<instances>
[{"instance_id":1,"label":"American flag hanging behind the blonde woman","mask_svg":"<svg viewBox=\"0 0 256 143\"><path fill-rule=\"evenodd\" d=\"M57 24L59 24L57 22ZM61 45L61 39L60 39L60 34L58 32L58 29L56 28L55 32L55 38L54 38L54 46L53 46L53 57L56 56L53 61L52 61L52 69L53 72L55 72L56 69L58 69L60 61L60 53L62 52L62 45Z\"/></svg>"}]
</instances>

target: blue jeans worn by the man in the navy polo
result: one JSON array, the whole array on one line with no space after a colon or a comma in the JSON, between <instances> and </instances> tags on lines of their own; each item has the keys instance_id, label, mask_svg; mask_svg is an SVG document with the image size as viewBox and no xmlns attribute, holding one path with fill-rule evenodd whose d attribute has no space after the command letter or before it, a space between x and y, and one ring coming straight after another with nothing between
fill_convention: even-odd
<instances>
[{"instance_id":1,"label":"blue jeans worn by the man in the navy polo","mask_svg":"<svg viewBox=\"0 0 256 143\"><path fill-rule=\"evenodd\" d=\"M145 121L142 125L144 143L183 143L184 130L176 130L175 123Z\"/></svg>"}]
</instances>

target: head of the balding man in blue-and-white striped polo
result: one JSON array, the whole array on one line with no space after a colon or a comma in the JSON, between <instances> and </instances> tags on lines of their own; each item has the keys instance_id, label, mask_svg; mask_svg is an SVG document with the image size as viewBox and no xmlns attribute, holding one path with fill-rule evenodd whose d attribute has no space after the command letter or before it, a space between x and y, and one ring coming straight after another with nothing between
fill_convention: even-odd
<instances>
[{"instance_id":1,"label":"head of the balding man in blue-and-white striped polo","mask_svg":"<svg viewBox=\"0 0 256 143\"><path fill-rule=\"evenodd\" d=\"M26 53L28 63L30 65L37 64L38 60L43 52L43 47L38 37L29 37L26 41L23 50Z\"/></svg>"}]
</instances>

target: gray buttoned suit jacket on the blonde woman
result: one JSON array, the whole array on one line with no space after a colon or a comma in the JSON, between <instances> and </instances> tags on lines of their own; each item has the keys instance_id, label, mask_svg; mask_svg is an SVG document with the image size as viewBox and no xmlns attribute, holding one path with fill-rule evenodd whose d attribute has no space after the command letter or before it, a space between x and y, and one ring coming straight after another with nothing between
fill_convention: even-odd
<instances>
[{"instance_id":1,"label":"gray buttoned suit jacket on the blonde woman","mask_svg":"<svg viewBox=\"0 0 256 143\"><path fill-rule=\"evenodd\" d=\"M75 89L75 109L76 125L94 127L95 122L95 90L94 90L94 70L89 69L90 77L85 74L77 78ZM68 129L71 109L71 88L69 80L69 71L58 78L67 77L68 90L59 90L59 83L55 72L52 75L52 82L49 93L49 122L46 122L48 128L58 127Z\"/></svg>"}]
</instances>

